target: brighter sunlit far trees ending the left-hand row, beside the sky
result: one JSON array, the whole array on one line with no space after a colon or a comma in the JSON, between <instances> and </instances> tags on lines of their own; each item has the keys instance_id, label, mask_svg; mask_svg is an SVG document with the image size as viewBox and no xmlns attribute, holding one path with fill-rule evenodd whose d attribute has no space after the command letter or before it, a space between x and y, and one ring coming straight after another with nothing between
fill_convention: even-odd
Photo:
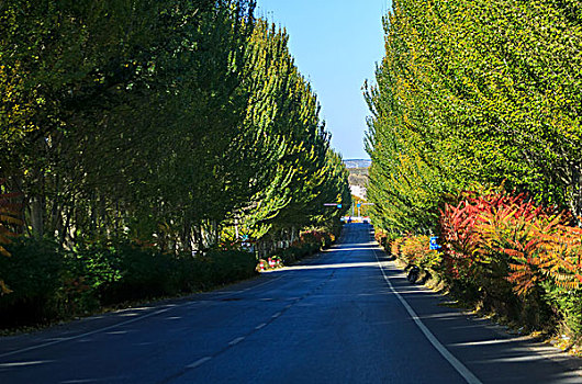
<instances>
[{"instance_id":1,"label":"brighter sunlit far trees ending the left-hand row, beside the sky","mask_svg":"<svg viewBox=\"0 0 582 384\"><path fill-rule=\"evenodd\" d=\"M254 98L247 121L266 137L256 147L268 149L261 163L267 180L253 197L248 225L253 237L310 225L337 222L350 202L348 172L329 148L329 135L318 118L320 106L311 86L299 74L290 56L284 31L257 21L249 60ZM325 203L344 203L342 211Z\"/></svg>"}]
</instances>

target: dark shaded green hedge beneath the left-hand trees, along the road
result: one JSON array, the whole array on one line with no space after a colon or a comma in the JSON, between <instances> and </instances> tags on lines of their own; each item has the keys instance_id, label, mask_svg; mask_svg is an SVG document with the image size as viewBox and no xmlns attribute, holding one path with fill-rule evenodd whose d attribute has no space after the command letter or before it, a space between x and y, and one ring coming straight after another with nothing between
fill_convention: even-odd
<instances>
[{"instance_id":1,"label":"dark shaded green hedge beneath the left-hand trees, along the road","mask_svg":"<svg viewBox=\"0 0 582 384\"><path fill-rule=\"evenodd\" d=\"M212 250L175 256L128 244L64 250L48 240L21 239L0 258L13 293L0 296L0 327L69 318L100 305L206 290L253 276L255 255Z\"/></svg>"}]
</instances>

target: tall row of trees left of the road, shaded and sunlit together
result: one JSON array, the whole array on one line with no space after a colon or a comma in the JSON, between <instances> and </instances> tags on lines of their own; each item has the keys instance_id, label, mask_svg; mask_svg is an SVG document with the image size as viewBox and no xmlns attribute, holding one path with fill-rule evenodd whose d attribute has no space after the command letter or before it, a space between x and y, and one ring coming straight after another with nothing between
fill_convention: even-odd
<instances>
[{"instance_id":1,"label":"tall row of trees left of the road, shaded and sunlit together","mask_svg":"<svg viewBox=\"0 0 582 384\"><path fill-rule=\"evenodd\" d=\"M253 0L0 3L0 171L23 231L191 251L336 223L347 171Z\"/></svg>"}]
</instances>

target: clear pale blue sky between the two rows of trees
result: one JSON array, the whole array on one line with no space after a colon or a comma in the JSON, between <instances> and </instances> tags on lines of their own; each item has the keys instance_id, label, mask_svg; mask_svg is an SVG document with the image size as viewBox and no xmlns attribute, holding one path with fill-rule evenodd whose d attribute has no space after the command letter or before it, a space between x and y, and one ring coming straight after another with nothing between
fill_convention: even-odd
<instances>
[{"instance_id":1,"label":"clear pale blue sky between the two rows of trees","mask_svg":"<svg viewBox=\"0 0 582 384\"><path fill-rule=\"evenodd\" d=\"M287 29L291 54L344 159L369 158L361 87L383 57L382 15L390 9L391 0L258 0L256 14Z\"/></svg>"}]
</instances>

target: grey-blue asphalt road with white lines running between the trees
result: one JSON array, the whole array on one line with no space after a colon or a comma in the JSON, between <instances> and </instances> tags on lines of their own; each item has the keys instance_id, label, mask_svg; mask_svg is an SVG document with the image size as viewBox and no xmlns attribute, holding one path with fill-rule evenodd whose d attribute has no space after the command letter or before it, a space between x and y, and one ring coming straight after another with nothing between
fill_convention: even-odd
<instances>
[{"instance_id":1,"label":"grey-blue asphalt road with white lines running between the trees","mask_svg":"<svg viewBox=\"0 0 582 384\"><path fill-rule=\"evenodd\" d=\"M582 383L561 352L444 301L350 224L301 266L0 338L0 383Z\"/></svg>"}]
</instances>

